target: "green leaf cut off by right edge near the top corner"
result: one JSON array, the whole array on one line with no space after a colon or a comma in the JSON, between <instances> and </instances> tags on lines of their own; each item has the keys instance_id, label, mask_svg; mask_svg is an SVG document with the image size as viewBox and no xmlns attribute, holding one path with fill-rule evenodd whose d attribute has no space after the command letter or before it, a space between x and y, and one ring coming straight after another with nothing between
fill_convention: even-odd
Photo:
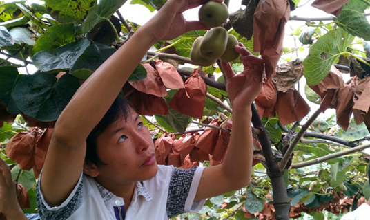
<instances>
[{"instance_id":1,"label":"green leaf cut off by right edge near the top corner","mask_svg":"<svg viewBox=\"0 0 370 220\"><path fill-rule=\"evenodd\" d=\"M370 24L364 14L351 9L342 10L338 19L334 18L340 28L343 28L353 36L362 37L366 41L370 41Z\"/></svg>"}]
</instances>

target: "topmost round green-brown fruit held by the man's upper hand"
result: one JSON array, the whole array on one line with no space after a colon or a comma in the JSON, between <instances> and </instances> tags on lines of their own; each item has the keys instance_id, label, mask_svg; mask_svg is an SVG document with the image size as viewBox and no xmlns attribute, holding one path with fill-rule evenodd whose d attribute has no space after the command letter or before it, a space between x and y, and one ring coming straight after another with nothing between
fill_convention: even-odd
<instances>
[{"instance_id":1,"label":"topmost round green-brown fruit held by the man's upper hand","mask_svg":"<svg viewBox=\"0 0 370 220\"><path fill-rule=\"evenodd\" d=\"M228 8L224 3L208 1L199 8L199 21L209 28L222 25L228 18Z\"/></svg>"}]
</instances>

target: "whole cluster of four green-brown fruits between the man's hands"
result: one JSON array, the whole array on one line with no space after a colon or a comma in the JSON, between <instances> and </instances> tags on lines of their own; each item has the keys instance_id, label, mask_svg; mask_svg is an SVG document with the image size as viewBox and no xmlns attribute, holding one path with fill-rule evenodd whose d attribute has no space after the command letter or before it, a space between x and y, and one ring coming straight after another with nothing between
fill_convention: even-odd
<instances>
[{"instance_id":1,"label":"whole cluster of four green-brown fruits between the man's hands","mask_svg":"<svg viewBox=\"0 0 370 220\"><path fill-rule=\"evenodd\" d=\"M209 66L217 58L230 62L239 57L235 52L238 41L226 29L218 27L228 18L228 8L224 3L208 1L199 9L199 21L211 28L204 36L195 39L190 58L195 65Z\"/></svg>"}]
</instances>

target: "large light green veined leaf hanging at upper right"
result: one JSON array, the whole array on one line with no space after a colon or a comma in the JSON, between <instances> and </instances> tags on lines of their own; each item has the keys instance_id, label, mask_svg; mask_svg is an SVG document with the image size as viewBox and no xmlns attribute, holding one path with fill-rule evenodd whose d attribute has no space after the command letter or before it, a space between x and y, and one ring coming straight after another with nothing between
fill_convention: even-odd
<instances>
[{"instance_id":1,"label":"large light green veined leaf hanging at upper right","mask_svg":"<svg viewBox=\"0 0 370 220\"><path fill-rule=\"evenodd\" d=\"M338 62L340 53L345 52L352 43L354 36L342 28L331 30L314 43L309 56L304 59L304 76L308 85L317 85L327 76L331 65Z\"/></svg>"}]
</instances>

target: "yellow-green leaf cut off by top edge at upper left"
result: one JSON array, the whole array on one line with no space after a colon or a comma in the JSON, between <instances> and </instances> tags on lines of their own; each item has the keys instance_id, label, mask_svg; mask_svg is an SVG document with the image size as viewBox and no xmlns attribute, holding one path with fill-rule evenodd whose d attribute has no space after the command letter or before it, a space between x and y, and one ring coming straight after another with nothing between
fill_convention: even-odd
<instances>
[{"instance_id":1,"label":"yellow-green leaf cut off by top edge at upper left","mask_svg":"<svg viewBox=\"0 0 370 220\"><path fill-rule=\"evenodd\" d=\"M82 23L97 0L46 0L45 5L50 15L61 23Z\"/></svg>"}]
</instances>

